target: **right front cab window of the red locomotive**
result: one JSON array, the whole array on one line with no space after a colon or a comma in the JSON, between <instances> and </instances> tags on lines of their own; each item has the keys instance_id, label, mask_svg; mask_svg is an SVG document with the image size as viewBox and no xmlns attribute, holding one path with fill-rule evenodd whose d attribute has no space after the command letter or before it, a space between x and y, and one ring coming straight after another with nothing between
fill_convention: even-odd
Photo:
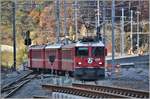
<instances>
[{"instance_id":1,"label":"right front cab window of the red locomotive","mask_svg":"<svg viewBox=\"0 0 150 99\"><path fill-rule=\"evenodd\" d=\"M104 56L104 47L93 47L92 55L95 57Z\"/></svg>"}]
</instances>

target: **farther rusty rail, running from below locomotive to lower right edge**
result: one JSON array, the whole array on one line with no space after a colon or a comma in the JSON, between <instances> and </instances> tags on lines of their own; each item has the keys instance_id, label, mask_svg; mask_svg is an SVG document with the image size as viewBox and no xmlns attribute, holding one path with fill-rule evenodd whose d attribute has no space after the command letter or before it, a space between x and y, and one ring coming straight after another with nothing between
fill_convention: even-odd
<instances>
[{"instance_id":1,"label":"farther rusty rail, running from below locomotive to lower right edge","mask_svg":"<svg viewBox=\"0 0 150 99\"><path fill-rule=\"evenodd\" d=\"M73 87L85 88L88 90L96 90L99 92L107 92L114 95L122 95L126 97L134 97L134 98L149 98L149 92L133 90L127 88L118 88L118 87L109 87L109 86L97 86L97 85L88 85L88 84L72 84Z\"/></svg>"}]
</instances>

